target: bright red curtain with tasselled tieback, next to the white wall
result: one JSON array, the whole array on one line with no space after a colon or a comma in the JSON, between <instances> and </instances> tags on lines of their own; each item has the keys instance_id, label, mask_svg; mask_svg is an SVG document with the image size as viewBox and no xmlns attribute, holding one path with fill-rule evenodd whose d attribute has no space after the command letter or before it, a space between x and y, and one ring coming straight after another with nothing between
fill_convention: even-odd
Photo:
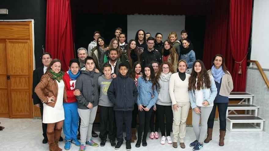
<instances>
[{"instance_id":1,"label":"bright red curtain with tasselled tieback, next to the white wall","mask_svg":"<svg viewBox=\"0 0 269 151\"><path fill-rule=\"evenodd\" d=\"M238 74L239 63L234 63L234 91L243 92L246 86L247 51L252 19L252 0L230 0L230 46L233 58L241 62L242 74Z\"/></svg>"}]
</instances>

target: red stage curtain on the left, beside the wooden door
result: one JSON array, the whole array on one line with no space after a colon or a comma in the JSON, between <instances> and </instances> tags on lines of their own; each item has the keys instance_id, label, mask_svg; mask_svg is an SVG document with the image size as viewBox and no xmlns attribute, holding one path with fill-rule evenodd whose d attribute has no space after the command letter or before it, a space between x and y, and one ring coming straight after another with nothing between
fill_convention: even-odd
<instances>
[{"instance_id":1,"label":"red stage curtain on the left, beside the wooden door","mask_svg":"<svg viewBox=\"0 0 269 151\"><path fill-rule=\"evenodd\" d=\"M70 0L47 0L46 52L62 61L62 69L68 70L74 58Z\"/></svg>"}]
</instances>

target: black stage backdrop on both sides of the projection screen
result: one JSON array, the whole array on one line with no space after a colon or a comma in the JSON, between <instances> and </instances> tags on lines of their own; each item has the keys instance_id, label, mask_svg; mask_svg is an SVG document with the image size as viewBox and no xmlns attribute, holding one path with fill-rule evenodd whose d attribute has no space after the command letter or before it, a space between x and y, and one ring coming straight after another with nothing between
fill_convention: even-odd
<instances>
[{"instance_id":1,"label":"black stage backdrop on both sides of the projection screen","mask_svg":"<svg viewBox=\"0 0 269 151\"><path fill-rule=\"evenodd\" d=\"M118 14L79 14L75 23L75 51L80 47L88 49L90 41L93 41L94 31L100 31L105 38L105 43L109 45L115 37L115 28L121 27L127 33L127 15ZM185 29L188 31L188 38L194 45L197 59L202 59L204 36L205 36L205 16L186 16ZM180 39L180 33L178 38ZM165 40L165 37L163 41ZM77 52L75 52L77 56Z\"/></svg>"}]
</instances>

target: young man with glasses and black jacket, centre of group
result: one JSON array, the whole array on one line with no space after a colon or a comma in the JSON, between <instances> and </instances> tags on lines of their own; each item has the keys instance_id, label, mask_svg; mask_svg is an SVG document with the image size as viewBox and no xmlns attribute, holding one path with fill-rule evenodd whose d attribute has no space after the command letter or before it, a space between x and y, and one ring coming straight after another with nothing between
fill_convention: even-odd
<instances>
[{"instance_id":1,"label":"young man with glasses and black jacket, centre of group","mask_svg":"<svg viewBox=\"0 0 269 151\"><path fill-rule=\"evenodd\" d=\"M162 62L162 57L158 50L154 49L154 38L149 37L147 39L147 50L141 54L142 67L145 67L146 64L151 64L152 61Z\"/></svg>"}]
</instances>

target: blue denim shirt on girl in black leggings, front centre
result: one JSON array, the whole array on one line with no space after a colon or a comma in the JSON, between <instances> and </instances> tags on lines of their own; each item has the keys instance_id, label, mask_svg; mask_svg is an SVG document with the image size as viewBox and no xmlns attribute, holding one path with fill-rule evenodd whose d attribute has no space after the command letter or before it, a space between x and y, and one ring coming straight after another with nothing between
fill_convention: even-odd
<instances>
[{"instance_id":1,"label":"blue denim shirt on girl in black leggings, front centre","mask_svg":"<svg viewBox=\"0 0 269 151\"><path fill-rule=\"evenodd\" d=\"M137 105L140 104L143 106L147 106L149 109L155 105L158 99L158 92L156 90L156 86L154 86L154 90L152 91L152 82L151 80L146 80L141 76L137 80ZM153 98L151 98L154 96Z\"/></svg>"}]
</instances>

